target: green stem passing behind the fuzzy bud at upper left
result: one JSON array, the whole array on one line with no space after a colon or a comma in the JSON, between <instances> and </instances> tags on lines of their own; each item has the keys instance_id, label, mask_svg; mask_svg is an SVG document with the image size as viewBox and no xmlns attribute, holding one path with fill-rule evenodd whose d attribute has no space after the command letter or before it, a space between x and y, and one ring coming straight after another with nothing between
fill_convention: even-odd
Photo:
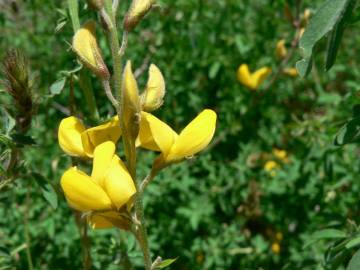
<instances>
[{"instance_id":1,"label":"green stem passing behind the fuzzy bud at upper left","mask_svg":"<svg viewBox=\"0 0 360 270\"><path fill-rule=\"evenodd\" d=\"M68 0L68 8L70 13L70 19L72 22L74 33L80 28L79 19L79 4L78 0ZM99 112L95 102L94 91L91 84L89 73L82 69L79 73L79 84L80 88L84 93L86 103L88 105L90 118L92 120L99 119Z\"/></svg>"}]
</instances>

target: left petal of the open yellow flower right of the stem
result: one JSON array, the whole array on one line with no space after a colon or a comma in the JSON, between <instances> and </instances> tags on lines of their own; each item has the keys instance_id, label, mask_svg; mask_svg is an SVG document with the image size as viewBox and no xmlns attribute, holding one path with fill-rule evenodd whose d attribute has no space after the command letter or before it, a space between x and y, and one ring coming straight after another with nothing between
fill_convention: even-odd
<instances>
[{"instance_id":1,"label":"left petal of the open yellow flower right of the stem","mask_svg":"<svg viewBox=\"0 0 360 270\"><path fill-rule=\"evenodd\" d=\"M177 133L166 123L150 113L141 112L137 146L167 154L177 137Z\"/></svg>"}]
</instances>

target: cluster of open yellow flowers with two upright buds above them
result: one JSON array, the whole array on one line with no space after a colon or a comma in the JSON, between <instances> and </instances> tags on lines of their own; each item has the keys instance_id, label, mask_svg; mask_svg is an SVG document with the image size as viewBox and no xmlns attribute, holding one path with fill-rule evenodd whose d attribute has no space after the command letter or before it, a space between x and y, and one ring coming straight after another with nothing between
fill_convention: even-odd
<instances>
[{"instance_id":1,"label":"cluster of open yellow flowers with two upright buds above them","mask_svg":"<svg viewBox=\"0 0 360 270\"><path fill-rule=\"evenodd\" d=\"M210 143L217 118L213 110L203 110L179 134L151 114L161 106L165 95L165 81L155 65L149 68L149 79L141 95L130 62L125 67L123 80L128 92L123 102L140 104L139 119L134 120L139 126L134 139L136 147L160 152L153 169L159 171L191 157ZM129 106L129 110L133 107ZM124 110L123 114L125 118L131 112ZM120 121L119 116L114 116L99 126L86 128L80 119L70 116L59 126L58 139L63 151L70 156L92 159L90 176L71 167L63 174L61 187L69 206L86 213L93 228L130 228L130 211L137 187L116 155L116 144L122 135L125 136ZM129 118L126 123L132 125L131 121Z\"/></svg>"}]
</instances>

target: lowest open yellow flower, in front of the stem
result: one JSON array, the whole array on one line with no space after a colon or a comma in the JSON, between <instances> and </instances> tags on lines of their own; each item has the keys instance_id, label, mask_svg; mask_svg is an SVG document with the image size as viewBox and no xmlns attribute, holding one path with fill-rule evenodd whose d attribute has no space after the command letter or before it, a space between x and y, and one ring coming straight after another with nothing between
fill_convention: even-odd
<instances>
[{"instance_id":1,"label":"lowest open yellow flower, in front of the stem","mask_svg":"<svg viewBox=\"0 0 360 270\"><path fill-rule=\"evenodd\" d=\"M63 174L60 184L70 207L91 213L89 221L93 228L123 223L123 217L116 211L130 207L136 193L134 182L111 141L95 148L91 176L72 167Z\"/></svg>"}]
</instances>

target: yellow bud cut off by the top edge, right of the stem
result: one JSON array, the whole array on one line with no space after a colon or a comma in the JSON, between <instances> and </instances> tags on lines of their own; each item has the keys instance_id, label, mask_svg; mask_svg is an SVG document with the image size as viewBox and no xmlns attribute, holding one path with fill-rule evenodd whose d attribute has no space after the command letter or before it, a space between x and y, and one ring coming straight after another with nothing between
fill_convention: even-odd
<instances>
[{"instance_id":1,"label":"yellow bud cut off by the top edge, right of the stem","mask_svg":"<svg viewBox=\"0 0 360 270\"><path fill-rule=\"evenodd\" d=\"M150 11L155 0L133 0L129 11L126 13L124 28L130 32L141 21L141 19Z\"/></svg>"}]
</instances>

